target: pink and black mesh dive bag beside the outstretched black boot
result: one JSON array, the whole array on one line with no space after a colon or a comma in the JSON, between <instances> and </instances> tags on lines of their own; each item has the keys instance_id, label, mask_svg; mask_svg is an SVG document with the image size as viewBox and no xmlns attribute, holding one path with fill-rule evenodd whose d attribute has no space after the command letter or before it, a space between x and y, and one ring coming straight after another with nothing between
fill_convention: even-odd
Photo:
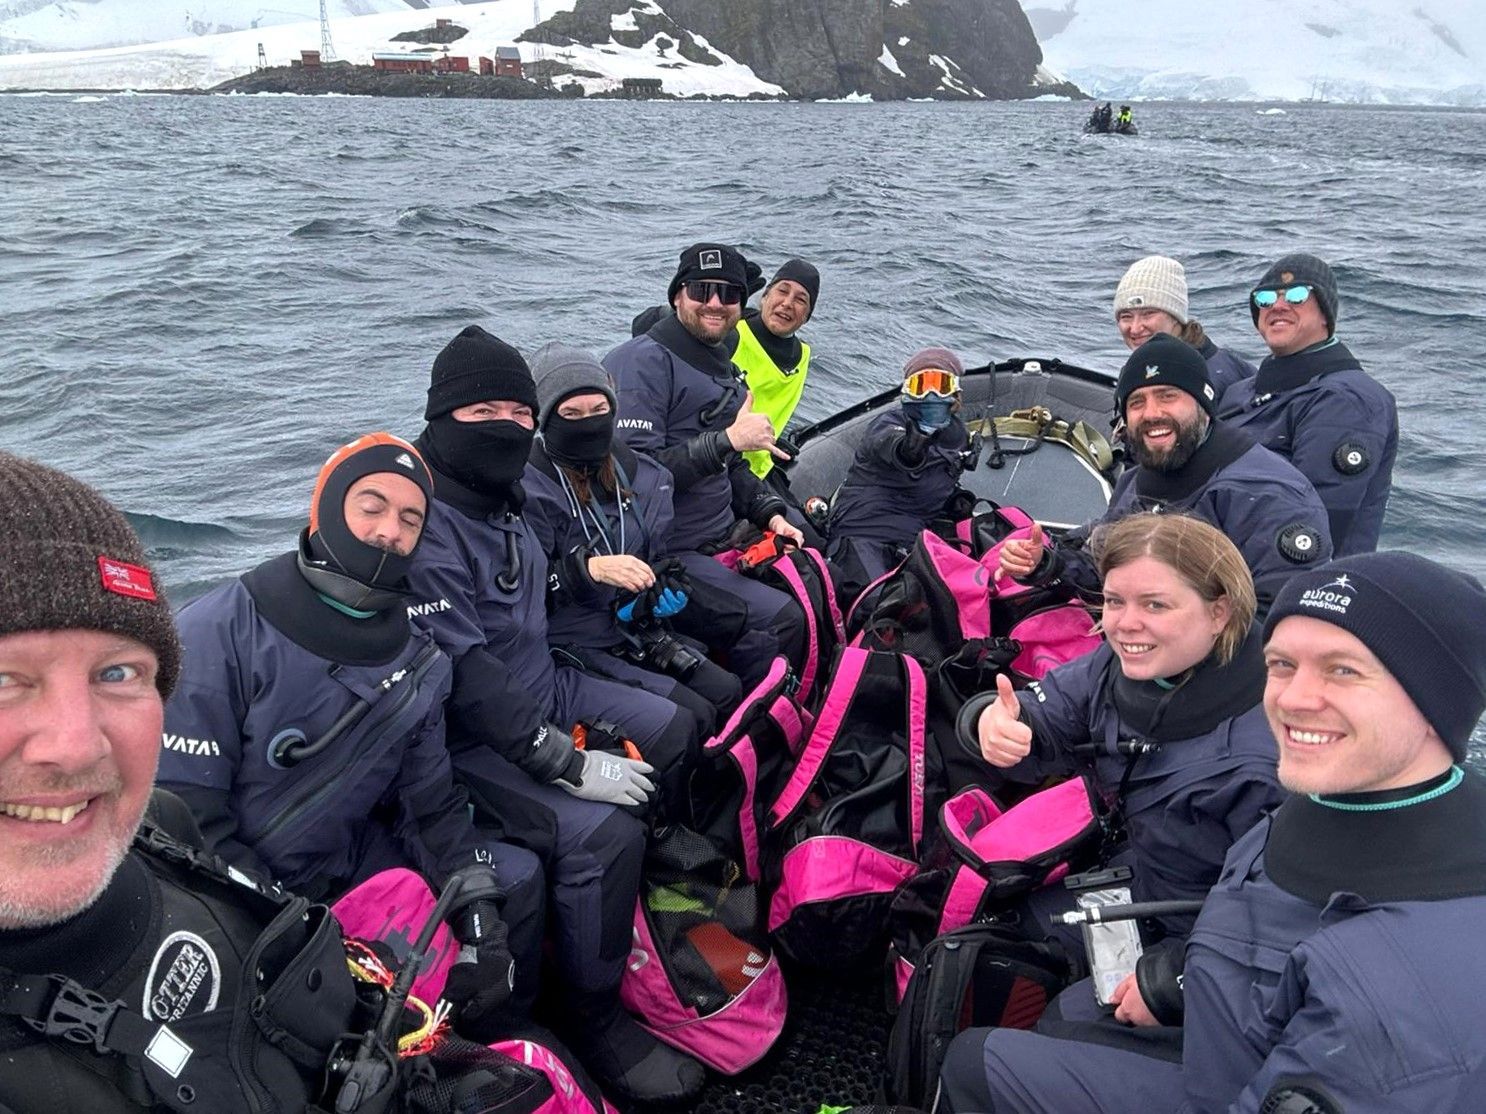
<instances>
[{"instance_id":1,"label":"pink and black mesh dive bag beside the outstretched black boot","mask_svg":"<svg viewBox=\"0 0 1486 1114\"><path fill-rule=\"evenodd\" d=\"M785 977L759 913L758 888L706 836L654 836L620 998L657 1038L727 1075L785 1028Z\"/></svg>"}]
</instances>

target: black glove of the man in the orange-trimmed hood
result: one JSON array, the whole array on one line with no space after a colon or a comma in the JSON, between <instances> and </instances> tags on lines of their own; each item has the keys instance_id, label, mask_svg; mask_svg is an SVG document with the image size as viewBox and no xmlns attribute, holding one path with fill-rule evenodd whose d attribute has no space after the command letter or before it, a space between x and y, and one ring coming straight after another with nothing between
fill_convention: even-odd
<instances>
[{"instance_id":1,"label":"black glove of the man in the orange-trimmed hood","mask_svg":"<svg viewBox=\"0 0 1486 1114\"><path fill-rule=\"evenodd\" d=\"M480 876L483 875L483 878ZM502 1007L516 986L516 961L507 946L505 921L495 903L495 876L486 866L470 866L474 900L455 905L449 928L459 942L459 958L444 982L444 998L455 1007L455 1029L467 1040L489 1044L510 1031Z\"/></svg>"}]
</instances>

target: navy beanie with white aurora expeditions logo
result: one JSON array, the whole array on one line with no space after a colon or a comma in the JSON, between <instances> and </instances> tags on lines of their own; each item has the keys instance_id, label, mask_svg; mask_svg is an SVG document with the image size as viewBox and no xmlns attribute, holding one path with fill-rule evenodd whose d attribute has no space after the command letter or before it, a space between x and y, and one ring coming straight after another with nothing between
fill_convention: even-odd
<instances>
[{"instance_id":1,"label":"navy beanie with white aurora expeditions logo","mask_svg":"<svg viewBox=\"0 0 1486 1114\"><path fill-rule=\"evenodd\" d=\"M1306 615L1355 636L1403 686L1456 762L1486 711L1486 588L1413 553L1342 557L1294 573L1279 590L1265 642Z\"/></svg>"}]
</instances>

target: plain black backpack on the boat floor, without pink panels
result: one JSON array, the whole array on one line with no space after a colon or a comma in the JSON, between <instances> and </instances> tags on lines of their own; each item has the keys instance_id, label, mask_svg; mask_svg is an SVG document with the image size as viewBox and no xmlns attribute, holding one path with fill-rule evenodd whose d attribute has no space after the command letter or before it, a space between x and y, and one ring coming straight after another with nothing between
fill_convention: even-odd
<instances>
[{"instance_id":1,"label":"plain black backpack on the boat floor, without pink panels","mask_svg":"<svg viewBox=\"0 0 1486 1114\"><path fill-rule=\"evenodd\" d=\"M1067 982L1062 948L1030 940L1013 924L978 921L936 937L918 957L887 1041L889 1101L927 1110L957 1034L1030 1029Z\"/></svg>"}]
</instances>

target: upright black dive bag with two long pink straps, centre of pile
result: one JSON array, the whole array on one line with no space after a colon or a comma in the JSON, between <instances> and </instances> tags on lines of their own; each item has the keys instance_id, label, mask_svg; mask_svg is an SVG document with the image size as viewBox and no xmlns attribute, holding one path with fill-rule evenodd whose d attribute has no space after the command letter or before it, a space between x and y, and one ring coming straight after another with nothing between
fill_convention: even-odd
<instances>
[{"instance_id":1,"label":"upright black dive bag with two long pink straps, centre of pile","mask_svg":"<svg viewBox=\"0 0 1486 1114\"><path fill-rule=\"evenodd\" d=\"M918 869L926 698L914 658L841 651L768 814L768 928L792 960L843 968L881 945L892 894Z\"/></svg>"}]
</instances>

